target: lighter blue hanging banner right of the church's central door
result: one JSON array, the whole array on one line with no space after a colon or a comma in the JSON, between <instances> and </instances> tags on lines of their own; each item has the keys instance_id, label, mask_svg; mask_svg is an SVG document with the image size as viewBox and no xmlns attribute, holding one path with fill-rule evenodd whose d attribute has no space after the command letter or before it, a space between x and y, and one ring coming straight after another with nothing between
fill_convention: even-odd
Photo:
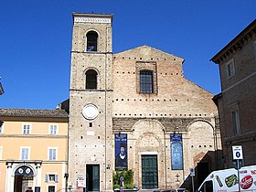
<instances>
[{"instance_id":1,"label":"lighter blue hanging banner right of the church's central door","mask_svg":"<svg viewBox=\"0 0 256 192\"><path fill-rule=\"evenodd\" d=\"M172 170L183 170L182 134L171 134Z\"/></svg>"}]
</instances>

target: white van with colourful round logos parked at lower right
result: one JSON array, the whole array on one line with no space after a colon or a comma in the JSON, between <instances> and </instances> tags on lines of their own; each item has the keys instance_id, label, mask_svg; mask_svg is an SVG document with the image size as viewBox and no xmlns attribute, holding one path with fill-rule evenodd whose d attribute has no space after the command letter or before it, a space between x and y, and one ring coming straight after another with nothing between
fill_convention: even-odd
<instances>
[{"instance_id":1,"label":"white van with colourful round logos parked at lower right","mask_svg":"<svg viewBox=\"0 0 256 192\"><path fill-rule=\"evenodd\" d=\"M239 173L238 177L238 170L235 168L213 171L197 189L197 192L256 192L256 165L243 166ZM240 178L240 182L238 178Z\"/></svg>"}]
</instances>

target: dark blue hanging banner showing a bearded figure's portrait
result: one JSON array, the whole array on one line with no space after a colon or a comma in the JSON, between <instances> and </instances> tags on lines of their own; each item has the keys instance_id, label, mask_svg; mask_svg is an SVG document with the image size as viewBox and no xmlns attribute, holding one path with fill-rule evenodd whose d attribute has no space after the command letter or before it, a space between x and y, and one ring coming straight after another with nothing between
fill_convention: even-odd
<instances>
[{"instance_id":1,"label":"dark blue hanging banner showing a bearded figure's portrait","mask_svg":"<svg viewBox=\"0 0 256 192\"><path fill-rule=\"evenodd\" d=\"M127 169L127 134L118 133L115 139L115 169Z\"/></svg>"}]
</instances>

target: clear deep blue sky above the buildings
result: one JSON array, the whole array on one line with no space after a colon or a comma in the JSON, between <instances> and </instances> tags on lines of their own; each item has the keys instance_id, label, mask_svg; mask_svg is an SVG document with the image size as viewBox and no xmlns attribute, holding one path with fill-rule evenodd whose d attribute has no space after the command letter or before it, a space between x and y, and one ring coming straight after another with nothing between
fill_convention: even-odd
<instances>
[{"instance_id":1,"label":"clear deep blue sky above the buildings","mask_svg":"<svg viewBox=\"0 0 256 192\"><path fill-rule=\"evenodd\" d=\"M255 0L0 0L0 108L55 109L69 98L72 13L113 15L113 53L147 45L185 59L220 92L209 61L256 17Z\"/></svg>"}]
</instances>

